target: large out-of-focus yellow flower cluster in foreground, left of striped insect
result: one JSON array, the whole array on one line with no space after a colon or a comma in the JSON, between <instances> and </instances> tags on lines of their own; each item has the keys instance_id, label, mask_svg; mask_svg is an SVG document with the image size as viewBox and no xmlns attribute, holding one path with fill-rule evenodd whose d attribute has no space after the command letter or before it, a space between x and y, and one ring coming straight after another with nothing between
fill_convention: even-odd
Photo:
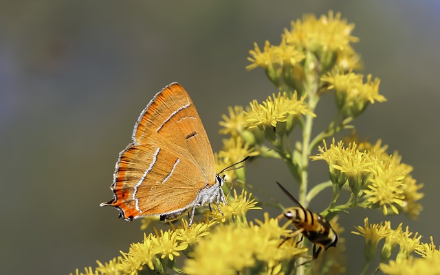
<instances>
[{"instance_id":1,"label":"large out-of-focus yellow flower cluster in foreground, left of striped insect","mask_svg":"<svg viewBox=\"0 0 440 275\"><path fill-rule=\"evenodd\" d=\"M287 224L286 224L287 226ZM208 237L200 241L186 260L184 272L205 274L284 274L292 259L301 256L307 248L295 243L281 244L282 237L292 233L286 226L278 226L267 213L263 222L256 224L221 224Z\"/></svg>"}]
</instances>

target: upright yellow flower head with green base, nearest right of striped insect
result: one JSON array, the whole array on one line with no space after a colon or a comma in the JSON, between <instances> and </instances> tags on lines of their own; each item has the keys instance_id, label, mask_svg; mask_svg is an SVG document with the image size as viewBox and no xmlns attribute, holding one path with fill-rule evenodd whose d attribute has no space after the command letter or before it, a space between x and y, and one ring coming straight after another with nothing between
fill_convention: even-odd
<instances>
[{"instance_id":1,"label":"upright yellow flower head with green base, nearest right of striped insect","mask_svg":"<svg viewBox=\"0 0 440 275\"><path fill-rule=\"evenodd\" d=\"M355 235L360 235L365 238L365 259L370 262L376 253L377 244L381 239L384 239L390 234L390 222L385 222L385 224L369 224L369 218L364 219L364 227L355 226L359 232L351 231Z\"/></svg>"}]
</instances>

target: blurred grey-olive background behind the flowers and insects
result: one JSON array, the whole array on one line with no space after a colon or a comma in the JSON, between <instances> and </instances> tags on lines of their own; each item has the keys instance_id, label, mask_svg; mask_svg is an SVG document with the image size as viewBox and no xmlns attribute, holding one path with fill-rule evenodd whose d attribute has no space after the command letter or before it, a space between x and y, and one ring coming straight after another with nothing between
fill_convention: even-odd
<instances>
[{"instance_id":1,"label":"blurred grey-olive background behind the flowers and insects","mask_svg":"<svg viewBox=\"0 0 440 275\"><path fill-rule=\"evenodd\" d=\"M99 204L112 196L118 152L148 101L180 82L220 150L227 107L274 92L262 69L245 70L254 41L278 44L290 21L329 10L355 23L364 72L380 77L388 99L355 121L358 133L398 150L426 194L417 221L341 215L348 254L357 255L349 256L351 273L362 269L364 239L349 232L366 215L391 219L393 228L404 222L422 241L432 235L439 243L440 2L293 2L1 1L1 273L69 274L140 241L139 221ZM334 111L333 97L321 104L316 130L325 125L319 115ZM325 180L327 165L312 166L311 182ZM278 180L296 191L283 163L250 163L248 178L257 197L292 204L274 187ZM322 195L310 208L328 203Z\"/></svg>"}]
</instances>

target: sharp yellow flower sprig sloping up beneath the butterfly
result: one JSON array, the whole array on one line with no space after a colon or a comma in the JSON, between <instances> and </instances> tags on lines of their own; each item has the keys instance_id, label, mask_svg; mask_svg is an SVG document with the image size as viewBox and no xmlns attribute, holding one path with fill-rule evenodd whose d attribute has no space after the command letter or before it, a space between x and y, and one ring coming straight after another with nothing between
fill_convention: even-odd
<instances>
[{"instance_id":1,"label":"sharp yellow flower sprig sloping up beneath the butterfly","mask_svg":"<svg viewBox=\"0 0 440 275\"><path fill-rule=\"evenodd\" d=\"M76 270L76 275L166 274L167 268L175 265L176 258L181 256L182 252L186 254L186 250L192 250L196 243L210 234L215 224L247 225L246 213L252 209L261 209L256 204L257 202L252 199L252 194L248 195L246 191L242 191L240 195L237 195L234 190L231 202L228 205L221 205L224 215L218 211L206 211L205 221L195 222L190 228L188 228L186 219L181 219L179 227L173 226L173 230L160 230L159 232L155 230L155 234L144 234L142 242L131 243L129 252L121 252L122 256L109 263L102 264L98 261L98 267L95 270L92 267L85 268L85 273Z\"/></svg>"}]
</instances>

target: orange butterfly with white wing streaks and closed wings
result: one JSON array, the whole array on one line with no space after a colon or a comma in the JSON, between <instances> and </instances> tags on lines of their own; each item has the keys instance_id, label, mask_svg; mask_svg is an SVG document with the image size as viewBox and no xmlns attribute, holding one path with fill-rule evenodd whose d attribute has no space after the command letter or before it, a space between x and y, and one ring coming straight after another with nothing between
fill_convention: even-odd
<instances>
[{"instance_id":1,"label":"orange butterfly with white wing streaks and closed wings","mask_svg":"<svg viewBox=\"0 0 440 275\"><path fill-rule=\"evenodd\" d=\"M118 208L128 221L173 220L192 208L190 226L198 206L227 203L224 180L215 173L208 135L188 93L171 83L142 110L115 165L113 199L100 206Z\"/></svg>"}]
</instances>

